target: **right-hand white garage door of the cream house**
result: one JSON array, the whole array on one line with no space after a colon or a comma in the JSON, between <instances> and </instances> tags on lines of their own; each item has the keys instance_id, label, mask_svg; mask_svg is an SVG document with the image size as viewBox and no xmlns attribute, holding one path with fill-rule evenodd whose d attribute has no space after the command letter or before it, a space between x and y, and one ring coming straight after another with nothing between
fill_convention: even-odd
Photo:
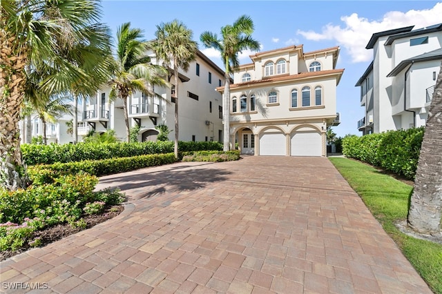
<instances>
[{"instance_id":1,"label":"right-hand white garage door of the cream house","mask_svg":"<svg viewBox=\"0 0 442 294\"><path fill-rule=\"evenodd\" d=\"M300 132L291 137L291 156L321 156L322 139L316 132Z\"/></svg>"}]
</instances>

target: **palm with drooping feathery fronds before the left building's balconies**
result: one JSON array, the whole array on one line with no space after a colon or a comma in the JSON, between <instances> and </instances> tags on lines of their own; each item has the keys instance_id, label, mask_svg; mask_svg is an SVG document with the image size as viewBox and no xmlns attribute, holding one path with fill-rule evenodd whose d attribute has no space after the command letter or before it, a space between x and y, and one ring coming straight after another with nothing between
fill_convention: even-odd
<instances>
[{"instance_id":1,"label":"palm with drooping feathery fronds before the left building's balconies","mask_svg":"<svg viewBox=\"0 0 442 294\"><path fill-rule=\"evenodd\" d=\"M131 126L127 112L127 99L135 91L155 96L152 86L168 86L162 78L167 70L162 66L150 63L146 55L148 43L139 28L131 28L131 23L123 23L117 30L117 52L111 86L111 99L123 100L124 122L126 124L126 141L131 140Z\"/></svg>"}]
</instances>

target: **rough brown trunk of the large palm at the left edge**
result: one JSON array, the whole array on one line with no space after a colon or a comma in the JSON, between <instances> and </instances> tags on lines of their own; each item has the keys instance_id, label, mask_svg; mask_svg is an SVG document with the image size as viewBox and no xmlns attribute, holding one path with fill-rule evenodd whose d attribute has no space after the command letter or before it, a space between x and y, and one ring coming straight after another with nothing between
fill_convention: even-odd
<instances>
[{"instance_id":1,"label":"rough brown trunk of the large palm at the left edge","mask_svg":"<svg viewBox=\"0 0 442 294\"><path fill-rule=\"evenodd\" d=\"M21 158L19 128L27 48L15 48L15 39L0 30L0 186L8 190L29 184Z\"/></svg>"}]
</instances>

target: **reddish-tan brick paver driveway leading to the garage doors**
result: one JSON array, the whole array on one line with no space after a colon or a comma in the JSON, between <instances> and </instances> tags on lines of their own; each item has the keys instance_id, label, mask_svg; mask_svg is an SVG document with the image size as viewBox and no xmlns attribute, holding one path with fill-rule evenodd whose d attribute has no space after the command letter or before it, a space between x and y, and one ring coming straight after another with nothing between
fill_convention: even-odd
<instances>
[{"instance_id":1,"label":"reddish-tan brick paver driveway leading to the garage doors","mask_svg":"<svg viewBox=\"0 0 442 294\"><path fill-rule=\"evenodd\" d=\"M327 158L183 162L108 186L130 197L122 215L1 262L1 291L431 293Z\"/></svg>"}]
</instances>

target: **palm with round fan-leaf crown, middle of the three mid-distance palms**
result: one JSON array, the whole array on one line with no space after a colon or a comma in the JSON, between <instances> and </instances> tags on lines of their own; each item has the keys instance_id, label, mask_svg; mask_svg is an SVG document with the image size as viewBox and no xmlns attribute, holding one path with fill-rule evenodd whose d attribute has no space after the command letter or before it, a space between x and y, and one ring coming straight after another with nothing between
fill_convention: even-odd
<instances>
[{"instance_id":1,"label":"palm with round fan-leaf crown, middle of the three mid-distance palms","mask_svg":"<svg viewBox=\"0 0 442 294\"><path fill-rule=\"evenodd\" d=\"M178 157L178 106L180 92L178 90L178 68L189 70L191 61L195 60L198 43L192 40L193 32L181 21L174 19L169 23L157 26L153 48L165 66L172 66L175 86L175 145L173 152Z\"/></svg>"}]
</instances>

